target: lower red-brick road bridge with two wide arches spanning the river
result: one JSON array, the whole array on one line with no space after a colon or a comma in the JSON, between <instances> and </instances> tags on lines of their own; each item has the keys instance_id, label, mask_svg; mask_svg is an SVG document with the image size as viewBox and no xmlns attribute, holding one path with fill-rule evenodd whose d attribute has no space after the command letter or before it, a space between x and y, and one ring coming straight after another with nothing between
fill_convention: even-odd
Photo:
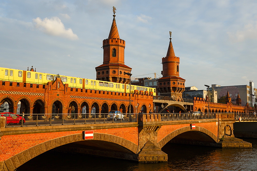
<instances>
[{"instance_id":1,"label":"lower red-brick road bridge with two wide arches spanning the river","mask_svg":"<svg viewBox=\"0 0 257 171\"><path fill-rule=\"evenodd\" d=\"M133 122L23 127L6 127L5 117L1 117L0 166L2 170L14 170L50 149L165 162L168 156L161 148L167 143L251 147L250 143L234 138L233 113L201 114L197 118L189 115L177 114L176 118L176 114L139 114ZM190 124L195 124L195 129ZM94 131L93 139L83 140L82 131L87 130Z\"/></svg>"}]
</instances>

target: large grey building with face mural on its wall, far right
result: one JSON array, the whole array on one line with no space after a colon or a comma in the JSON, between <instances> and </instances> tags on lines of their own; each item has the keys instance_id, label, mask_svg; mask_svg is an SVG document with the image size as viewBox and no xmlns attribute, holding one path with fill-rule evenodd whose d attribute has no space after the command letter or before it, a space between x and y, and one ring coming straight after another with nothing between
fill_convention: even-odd
<instances>
[{"instance_id":1,"label":"large grey building with face mural on its wall, far right","mask_svg":"<svg viewBox=\"0 0 257 171\"><path fill-rule=\"evenodd\" d=\"M217 91L218 99L222 97L226 97L227 91L231 97L231 103L236 104L236 99L238 94L242 100L242 106L245 106L246 103L249 106L253 107L256 102L257 89L254 88L254 83L250 80L248 85L240 85L240 86L219 86L217 84L212 84L212 88Z\"/></svg>"}]
</instances>

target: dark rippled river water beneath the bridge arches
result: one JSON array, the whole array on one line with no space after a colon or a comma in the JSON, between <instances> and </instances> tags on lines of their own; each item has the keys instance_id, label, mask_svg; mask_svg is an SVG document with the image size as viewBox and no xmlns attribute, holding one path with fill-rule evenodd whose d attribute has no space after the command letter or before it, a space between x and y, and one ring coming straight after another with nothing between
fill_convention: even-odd
<instances>
[{"instance_id":1,"label":"dark rippled river water beneath the bridge arches","mask_svg":"<svg viewBox=\"0 0 257 171\"><path fill-rule=\"evenodd\" d=\"M252 148L216 148L166 144L165 163L137 163L83 154L45 152L20 166L20 170L257 170L257 139L241 138Z\"/></svg>"}]
</instances>

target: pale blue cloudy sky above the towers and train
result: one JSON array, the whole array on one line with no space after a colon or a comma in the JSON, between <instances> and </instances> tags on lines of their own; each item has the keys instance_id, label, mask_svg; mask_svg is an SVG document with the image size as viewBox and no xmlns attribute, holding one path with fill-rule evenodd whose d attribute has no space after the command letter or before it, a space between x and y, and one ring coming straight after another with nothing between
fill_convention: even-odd
<instances>
[{"instance_id":1,"label":"pale blue cloudy sky above the towers and train","mask_svg":"<svg viewBox=\"0 0 257 171\"><path fill-rule=\"evenodd\" d=\"M255 0L0 0L0 67L96 79L113 6L132 77L162 76L171 31L186 87L257 85Z\"/></svg>"}]
</instances>

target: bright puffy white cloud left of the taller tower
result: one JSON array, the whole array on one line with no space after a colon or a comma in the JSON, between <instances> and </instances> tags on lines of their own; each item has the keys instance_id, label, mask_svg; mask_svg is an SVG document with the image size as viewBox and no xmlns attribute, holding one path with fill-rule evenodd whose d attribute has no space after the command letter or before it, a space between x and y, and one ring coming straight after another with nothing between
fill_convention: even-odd
<instances>
[{"instance_id":1,"label":"bright puffy white cloud left of the taller tower","mask_svg":"<svg viewBox=\"0 0 257 171\"><path fill-rule=\"evenodd\" d=\"M71 40L78 39L78 36L73 33L71 28L65 29L63 23L58 17L44 18L43 20L37 17L33 19L33 22L35 23L35 28L49 35L64 37Z\"/></svg>"}]
</instances>

